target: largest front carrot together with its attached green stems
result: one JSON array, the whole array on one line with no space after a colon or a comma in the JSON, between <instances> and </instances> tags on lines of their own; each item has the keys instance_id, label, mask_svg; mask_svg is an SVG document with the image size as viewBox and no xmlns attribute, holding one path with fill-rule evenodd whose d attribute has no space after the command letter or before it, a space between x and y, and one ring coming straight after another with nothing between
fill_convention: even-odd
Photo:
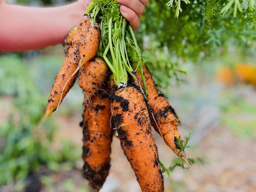
<instances>
[{"instance_id":1,"label":"largest front carrot together with its attached green stems","mask_svg":"<svg viewBox=\"0 0 256 192\"><path fill-rule=\"evenodd\" d=\"M120 4L116 0L93 0L92 5L93 10L100 10L98 15L95 14L101 20L102 40L98 53L110 68L114 76L112 81L116 85L110 87L113 91L110 96L112 128L118 132L121 146L142 191L163 192L158 150L144 100L143 91L146 90L139 86L135 88L129 82L130 77L134 84L138 82L134 69L142 67L135 35L130 24L120 14Z\"/></svg>"}]
</instances>

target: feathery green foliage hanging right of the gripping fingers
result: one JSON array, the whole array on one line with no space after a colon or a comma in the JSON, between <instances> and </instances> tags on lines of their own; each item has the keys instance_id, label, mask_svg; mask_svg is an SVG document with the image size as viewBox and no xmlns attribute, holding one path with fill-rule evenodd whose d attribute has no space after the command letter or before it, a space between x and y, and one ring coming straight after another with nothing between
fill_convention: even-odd
<instances>
[{"instance_id":1,"label":"feathery green foliage hanging right of the gripping fingers","mask_svg":"<svg viewBox=\"0 0 256 192\"><path fill-rule=\"evenodd\" d=\"M176 77L172 72L181 68L184 62L200 64L202 59L224 54L230 45L241 48L245 56L249 55L256 47L254 3L254 0L240 0L233 4L227 0L196 0L186 4L173 0L170 5L180 4L182 8L176 19L179 6L174 9L166 6L165 0L150 1L136 32L142 56L148 62L152 58L148 54L150 50L156 58L167 55L169 63L178 64L150 64L158 86L159 83L170 84L170 77ZM237 12L240 8L242 12Z\"/></svg>"}]
</instances>

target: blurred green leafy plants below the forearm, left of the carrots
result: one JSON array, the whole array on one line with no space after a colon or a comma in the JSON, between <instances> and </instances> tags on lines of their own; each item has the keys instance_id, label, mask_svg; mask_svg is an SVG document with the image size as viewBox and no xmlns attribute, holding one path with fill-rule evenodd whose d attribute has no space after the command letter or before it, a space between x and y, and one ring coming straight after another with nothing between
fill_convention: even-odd
<instances>
[{"instance_id":1,"label":"blurred green leafy plants below the forearm, left of the carrots","mask_svg":"<svg viewBox=\"0 0 256 192\"><path fill-rule=\"evenodd\" d=\"M60 163L74 162L81 149L70 143L62 143L59 152L52 149L56 125L51 119L40 121L47 98L28 75L27 64L12 54L1 56L0 63L0 95L13 100L0 124L0 185L36 174L43 165L57 171Z\"/></svg>"}]
</instances>

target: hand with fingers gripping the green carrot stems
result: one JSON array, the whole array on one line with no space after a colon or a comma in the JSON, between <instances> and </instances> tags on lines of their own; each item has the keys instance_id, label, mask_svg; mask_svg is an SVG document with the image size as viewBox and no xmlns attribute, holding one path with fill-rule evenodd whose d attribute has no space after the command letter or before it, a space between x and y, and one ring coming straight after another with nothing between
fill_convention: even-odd
<instances>
[{"instance_id":1,"label":"hand with fingers gripping the green carrot stems","mask_svg":"<svg viewBox=\"0 0 256 192\"><path fill-rule=\"evenodd\" d=\"M81 5L86 3L86 6L89 6L92 0L78 0ZM122 16L128 20L132 26L132 30L135 32L140 26L140 17L144 12L146 4L149 0L117 0L120 4L120 12Z\"/></svg>"}]
</instances>

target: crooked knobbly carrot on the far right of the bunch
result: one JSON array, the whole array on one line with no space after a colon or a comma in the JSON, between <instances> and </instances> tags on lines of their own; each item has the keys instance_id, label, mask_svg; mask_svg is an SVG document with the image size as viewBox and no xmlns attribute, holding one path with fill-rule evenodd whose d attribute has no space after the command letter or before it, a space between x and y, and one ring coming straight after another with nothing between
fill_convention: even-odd
<instances>
[{"instance_id":1,"label":"crooked knobbly carrot on the far right of the bunch","mask_svg":"<svg viewBox=\"0 0 256 192\"><path fill-rule=\"evenodd\" d=\"M166 144L177 154L177 156L182 158L184 162L190 166L186 159L185 152L180 151L180 147L176 144L176 141L180 136L180 133L177 130L177 126L180 125L180 120L178 119L177 114L164 95L156 90L152 76L145 65L143 66L143 72L148 90L148 102L152 107L152 113L155 119L152 122L152 126L156 132L164 138ZM142 83L140 72L137 72L136 76ZM180 140L184 143L181 137Z\"/></svg>"}]
</instances>

